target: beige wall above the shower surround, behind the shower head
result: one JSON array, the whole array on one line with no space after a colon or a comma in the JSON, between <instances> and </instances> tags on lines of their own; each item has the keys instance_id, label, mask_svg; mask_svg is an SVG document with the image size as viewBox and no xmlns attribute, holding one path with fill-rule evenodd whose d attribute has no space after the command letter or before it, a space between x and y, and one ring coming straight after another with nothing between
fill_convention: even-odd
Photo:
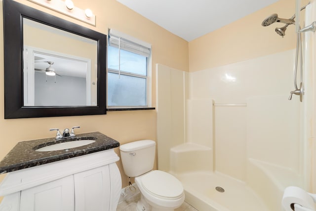
<instances>
[{"instance_id":1,"label":"beige wall above the shower surround, behind the shower head","mask_svg":"<svg viewBox=\"0 0 316 211\"><path fill-rule=\"evenodd\" d=\"M282 27L284 24L274 23L267 27L261 26L262 21L274 13L281 18L290 18L295 13L295 0L279 0L232 24L189 42L190 72L295 48L294 25L287 27L284 38L275 32L276 27Z\"/></svg>"}]
</instances>

